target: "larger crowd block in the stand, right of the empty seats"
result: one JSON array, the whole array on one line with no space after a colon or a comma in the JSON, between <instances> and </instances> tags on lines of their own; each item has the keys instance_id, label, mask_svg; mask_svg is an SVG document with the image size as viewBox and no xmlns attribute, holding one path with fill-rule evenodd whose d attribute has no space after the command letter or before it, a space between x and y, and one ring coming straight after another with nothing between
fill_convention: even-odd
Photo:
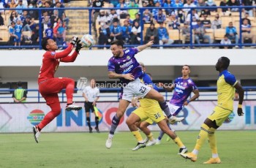
<instances>
[{"instance_id":1,"label":"larger crowd block in the stand, right of the empty seats","mask_svg":"<svg viewBox=\"0 0 256 168\"><path fill-rule=\"evenodd\" d=\"M217 7L217 4L214 0L94 0L91 1L91 7L143 7L145 9L143 9L143 13L140 13L139 9L94 9L93 27L94 31L97 31L99 45L110 45L113 39L123 39L127 45L137 45L141 41L146 43L148 40L154 40L156 45L171 45L176 40L170 38L170 32L172 32L170 30L175 29L181 34L180 40L178 40L182 42L181 44L188 42L190 37L195 44L202 42L211 44L216 41L207 32L210 29L225 28L226 32L223 34L222 40L219 40L221 42L218 41L218 43L229 45L233 42L238 47L239 27L233 26L233 20L230 20L228 26L224 26L221 18L231 17L233 12L237 12L238 8L232 8L232 6L240 6L240 2L244 6L256 5L255 0L222 0L219 6L227 8L175 9L175 7ZM174 9L162 7L174 7ZM249 20L254 15L255 9L243 9L241 42L244 42L244 39L251 39L252 43L255 43L256 34L251 33L251 20ZM143 23L140 23L140 18ZM191 33L192 36L190 36ZM144 39L141 39L141 34Z\"/></svg>"}]
</instances>

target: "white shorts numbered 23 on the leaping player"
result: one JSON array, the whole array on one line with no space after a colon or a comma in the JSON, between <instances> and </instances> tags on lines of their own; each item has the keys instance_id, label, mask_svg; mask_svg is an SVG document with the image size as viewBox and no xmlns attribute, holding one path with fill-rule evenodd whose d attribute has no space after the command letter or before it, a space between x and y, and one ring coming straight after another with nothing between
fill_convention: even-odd
<instances>
[{"instance_id":1,"label":"white shorts numbered 23 on the leaping player","mask_svg":"<svg viewBox=\"0 0 256 168\"><path fill-rule=\"evenodd\" d=\"M140 83L140 79L137 78L123 88L121 99L132 102L133 97L139 96L143 98L150 90L151 88L148 85Z\"/></svg>"}]
</instances>

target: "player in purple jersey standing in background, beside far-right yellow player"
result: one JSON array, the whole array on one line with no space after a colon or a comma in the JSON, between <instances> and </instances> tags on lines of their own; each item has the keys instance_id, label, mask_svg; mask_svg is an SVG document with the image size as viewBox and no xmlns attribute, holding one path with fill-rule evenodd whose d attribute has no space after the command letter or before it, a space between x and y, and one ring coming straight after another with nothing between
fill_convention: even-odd
<instances>
[{"instance_id":1,"label":"player in purple jersey standing in background, beside far-right yellow player","mask_svg":"<svg viewBox=\"0 0 256 168\"><path fill-rule=\"evenodd\" d=\"M199 97L199 91L197 89L197 86L189 77L190 66L182 66L181 73L182 77L176 78L174 84L170 87L165 87L163 83L159 83L159 86L165 88L166 91L173 91L174 89L173 97L172 99L170 99L170 102L168 104L170 112L172 112L173 116L178 115L178 112L180 112L184 106L187 106L189 102L195 101L195 99ZM192 96L190 99L187 99L192 92L194 93L194 96ZM159 137L157 138L157 145L160 144L164 134L165 133L163 131L160 131ZM170 139L167 138L167 140Z\"/></svg>"}]
</instances>

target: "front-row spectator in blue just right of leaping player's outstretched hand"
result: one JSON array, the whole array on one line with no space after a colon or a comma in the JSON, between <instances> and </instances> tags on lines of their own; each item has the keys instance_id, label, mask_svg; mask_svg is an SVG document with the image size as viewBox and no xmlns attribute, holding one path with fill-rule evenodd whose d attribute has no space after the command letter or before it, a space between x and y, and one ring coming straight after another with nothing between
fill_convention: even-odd
<instances>
[{"instance_id":1,"label":"front-row spectator in blue just right of leaping player's outstretched hand","mask_svg":"<svg viewBox=\"0 0 256 168\"><path fill-rule=\"evenodd\" d=\"M173 44L173 39L169 38L167 29L164 27L164 23L160 23L158 30L159 45L171 45ZM163 49L163 47L160 47Z\"/></svg>"}]
</instances>

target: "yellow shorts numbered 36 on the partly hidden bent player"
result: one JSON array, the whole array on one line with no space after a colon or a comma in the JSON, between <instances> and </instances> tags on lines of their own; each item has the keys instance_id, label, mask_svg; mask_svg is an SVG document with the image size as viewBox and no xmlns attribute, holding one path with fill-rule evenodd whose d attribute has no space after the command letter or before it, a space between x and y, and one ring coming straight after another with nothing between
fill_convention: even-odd
<instances>
[{"instance_id":1,"label":"yellow shorts numbered 36 on the partly hidden bent player","mask_svg":"<svg viewBox=\"0 0 256 168\"><path fill-rule=\"evenodd\" d=\"M138 109L133 112L139 116L141 121L146 121L147 119L150 119L152 123L159 123L160 121L165 120L165 115L163 115L159 104L152 105L151 107L146 108L138 107Z\"/></svg>"}]
</instances>

